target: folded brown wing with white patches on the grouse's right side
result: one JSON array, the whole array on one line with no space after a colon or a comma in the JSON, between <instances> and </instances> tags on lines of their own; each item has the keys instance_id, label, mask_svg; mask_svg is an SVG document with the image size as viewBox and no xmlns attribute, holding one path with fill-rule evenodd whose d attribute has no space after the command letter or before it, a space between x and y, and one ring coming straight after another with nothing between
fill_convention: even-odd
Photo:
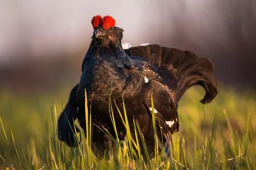
<instances>
[{"instance_id":1,"label":"folded brown wing with white patches on the grouse's right side","mask_svg":"<svg viewBox=\"0 0 256 170\"><path fill-rule=\"evenodd\" d=\"M150 64L147 60L131 56L131 59L141 69L144 76L145 85L143 86L143 103L147 106L148 112L156 113L157 124L165 131L179 131L179 118L175 96L172 90L158 74L156 66ZM151 103L151 95L153 97L154 109Z\"/></svg>"}]
</instances>

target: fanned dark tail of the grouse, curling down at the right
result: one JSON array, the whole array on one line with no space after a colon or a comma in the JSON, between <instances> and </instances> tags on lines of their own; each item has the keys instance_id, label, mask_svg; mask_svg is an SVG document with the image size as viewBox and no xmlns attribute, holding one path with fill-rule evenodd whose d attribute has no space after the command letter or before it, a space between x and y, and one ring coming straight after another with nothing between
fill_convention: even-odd
<instances>
[{"instance_id":1,"label":"fanned dark tail of the grouse, curling down at the right","mask_svg":"<svg viewBox=\"0 0 256 170\"><path fill-rule=\"evenodd\" d=\"M134 46L125 50L127 55L136 55L157 66L168 87L175 92L177 101L193 85L201 85L205 96L201 103L209 103L218 94L214 66L206 58L195 53L159 45Z\"/></svg>"}]
</instances>

